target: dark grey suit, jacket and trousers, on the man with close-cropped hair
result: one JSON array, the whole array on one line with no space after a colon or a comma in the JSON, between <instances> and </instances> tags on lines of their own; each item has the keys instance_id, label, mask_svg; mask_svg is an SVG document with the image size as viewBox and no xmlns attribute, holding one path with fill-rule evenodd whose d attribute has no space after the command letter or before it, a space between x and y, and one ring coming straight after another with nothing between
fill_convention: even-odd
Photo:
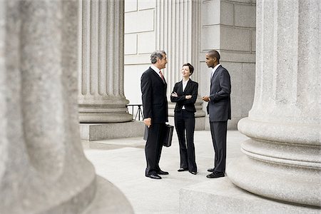
<instances>
[{"instance_id":1,"label":"dark grey suit, jacket and trousers, on the man with close-cropped hair","mask_svg":"<svg viewBox=\"0 0 321 214\"><path fill-rule=\"evenodd\" d=\"M226 135L230 119L230 74L218 66L210 79L210 133L215 151L215 173L224 173L226 165Z\"/></svg>"}]
</instances>

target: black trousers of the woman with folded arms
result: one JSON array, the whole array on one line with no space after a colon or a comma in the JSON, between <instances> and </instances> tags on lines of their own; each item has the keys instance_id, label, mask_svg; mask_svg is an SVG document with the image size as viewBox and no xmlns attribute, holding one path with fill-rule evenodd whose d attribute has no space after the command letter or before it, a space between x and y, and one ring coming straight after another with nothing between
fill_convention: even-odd
<instances>
[{"instance_id":1,"label":"black trousers of the woman with folded arms","mask_svg":"<svg viewBox=\"0 0 321 214\"><path fill-rule=\"evenodd\" d=\"M190 172L197 172L198 168L195 162L194 147L194 113L183 109L182 111L175 112L174 119L178 142L180 144L180 168L188 168Z\"/></svg>"}]
</instances>

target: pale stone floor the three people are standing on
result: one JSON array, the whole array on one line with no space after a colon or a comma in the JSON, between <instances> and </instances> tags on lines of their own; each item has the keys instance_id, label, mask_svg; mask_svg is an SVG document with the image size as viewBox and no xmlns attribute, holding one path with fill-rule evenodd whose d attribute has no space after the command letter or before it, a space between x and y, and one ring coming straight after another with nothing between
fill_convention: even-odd
<instances>
[{"instance_id":1,"label":"pale stone floor the three people are standing on","mask_svg":"<svg viewBox=\"0 0 321 214\"><path fill-rule=\"evenodd\" d=\"M248 139L238 131L228 131L227 163L242 153L240 143ZM179 213L179 191L204 182L214 182L205 176L213 167L213 145L210 131L195 131L195 153L198 174L179 173L179 147L176 133L170 148L163 147L160 166L169 175L161 180L145 177L145 141L143 138L121 138L108 141L83 141L87 158L96 173L116 185L128 198L135 213ZM228 179L228 178L217 178ZM215 189L213 189L213 192Z\"/></svg>"}]
</instances>

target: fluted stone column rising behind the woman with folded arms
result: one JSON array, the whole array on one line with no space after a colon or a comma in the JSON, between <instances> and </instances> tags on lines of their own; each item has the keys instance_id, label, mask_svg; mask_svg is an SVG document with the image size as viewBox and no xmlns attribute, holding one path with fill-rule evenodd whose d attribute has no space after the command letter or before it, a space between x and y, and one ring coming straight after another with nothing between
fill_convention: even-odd
<instances>
[{"instance_id":1,"label":"fluted stone column rising behind the woman with folded arms","mask_svg":"<svg viewBox=\"0 0 321 214\"><path fill-rule=\"evenodd\" d=\"M168 65L165 76L170 94L176 82L182 79L183 63L191 63L195 71L191 78L200 82L200 1L156 0L156 49L167 51ZM200 92L200 88L198 89ZM195 103L195 129L205 129L202 99ZM168 103L169 116L174 115L175 103Z\"/></svg>"}]
</instances>

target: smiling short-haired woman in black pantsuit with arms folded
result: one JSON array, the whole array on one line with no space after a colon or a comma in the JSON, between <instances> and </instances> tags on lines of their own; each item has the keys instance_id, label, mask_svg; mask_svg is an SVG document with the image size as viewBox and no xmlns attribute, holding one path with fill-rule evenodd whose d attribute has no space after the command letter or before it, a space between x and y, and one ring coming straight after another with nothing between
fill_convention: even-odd
<instances>
[{"instance_id":1,"label":"smiling short-haired woman in black pantsuit with arms folded","mask_svg":"<svg viewBox=\"0 0 321 214\"><path fill-rule=\"evenodd\" d=\"M195 101L198 96L198 83L192 81L190 76L194 67L190 63L183 64L183 80L175 83L170 101L175 106L175 129L180 144L180 169L178 172L188 170L196 175L198 168L195 162L194 129L195 129ZM186 131L186 138L185 138Z\"/></svg>"}]
</instances>

